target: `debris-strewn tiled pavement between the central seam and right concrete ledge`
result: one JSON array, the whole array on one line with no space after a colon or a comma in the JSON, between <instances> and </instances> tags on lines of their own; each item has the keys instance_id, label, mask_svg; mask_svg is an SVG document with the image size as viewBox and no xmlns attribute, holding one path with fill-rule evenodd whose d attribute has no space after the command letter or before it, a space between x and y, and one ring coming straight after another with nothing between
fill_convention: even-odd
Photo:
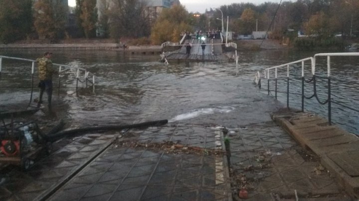
<instances>
[{"instance_id":1,"label":"debris-strewn tiled pavement between the central seam and right concrete ledge","mask_svg":"<svg viewBox=\"0 0 359 201\"><path fill-rule=\"evenodd\" d=\"M295 200L295 191L301 200L350 200L315 157L273 122L230 131L228 137L230 163L246 179L248 201Z\"/></svg>"}]
</instances>

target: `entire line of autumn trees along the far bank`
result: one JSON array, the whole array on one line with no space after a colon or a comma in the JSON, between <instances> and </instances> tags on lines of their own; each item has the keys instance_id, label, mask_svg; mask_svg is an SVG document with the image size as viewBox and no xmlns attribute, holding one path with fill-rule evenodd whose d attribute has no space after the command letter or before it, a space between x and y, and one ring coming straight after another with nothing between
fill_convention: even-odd
<instances>
[{"instance_id":1,"label":"entire line of autumn trees along the far bank","mask_svg":"<svg viewBox=\"0 0 359 201\"><path fill-rule=\"evenodd\" d=\"M280 39L294 31L328 38L334 33L358 36L359 0L297 0L281 4L232 3L194 16L184 6L164 8L157 15L143 0L76 0L76 37L145 38L152 44L179 41L181 33L221 30L221 11L229 31L270 31ZM71 37L68 6L61 0L0 0L0 42Z\"/></svg>"}]
</instances>

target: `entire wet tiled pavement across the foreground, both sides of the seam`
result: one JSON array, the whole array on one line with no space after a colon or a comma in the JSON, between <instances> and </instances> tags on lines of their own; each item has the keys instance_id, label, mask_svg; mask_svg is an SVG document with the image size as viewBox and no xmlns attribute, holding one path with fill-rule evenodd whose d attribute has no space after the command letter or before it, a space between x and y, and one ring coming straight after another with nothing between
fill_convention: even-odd
<instances>
[{"instance_id":1,"label":"entire wet tiled pavement across the foreground, both sides of the seam","mask_svg":"<svg viewBox=\"0 0 359 201\"><path fill-rule=\"evenodd\" d=\"M303 155L301 147L273 122L233 129L227 136L231 167L247 180L247 200L294 200L295 191L300 200L350 200L319 162ZM204 150L223 149L221 131L170 125L131 129L119 138L120 142L112 143L114 137L90 134L67 139L70 143L55 144L58 150L36 162L29 172L1 170L0 176L6 180L0 184L0 199L232 200L235 187L230 187L225 156L205 152L176 154L121 143L172 141ZM233 195L234 200L239 200L236 191Z\"/></svg>"}]
</instances>

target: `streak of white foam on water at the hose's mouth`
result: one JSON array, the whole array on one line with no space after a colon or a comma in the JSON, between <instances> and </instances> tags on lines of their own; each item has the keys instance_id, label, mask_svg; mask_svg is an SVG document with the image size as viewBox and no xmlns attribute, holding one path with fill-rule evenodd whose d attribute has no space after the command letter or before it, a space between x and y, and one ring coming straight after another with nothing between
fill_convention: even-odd
<instances>
[{"instance_id":1,"label":"streak of white foam on water at the hose's mouth","mask_svg":"<svg viewBox=\"0 0 359 201\"><path fill-rule=\"evenodd\" d=\"M214 113L228 113L230 111L234 110L234 107L232 106L220 106L217 108L200 108L200 109L194 109L191 111L188 111L183 114L179 114L175 116L174 118L170 119L169 122L175 122L180 121L184 119L191 119L195 118L200 115L208 115L208 114L214 114Z\"/></svg>"}]
</instances>

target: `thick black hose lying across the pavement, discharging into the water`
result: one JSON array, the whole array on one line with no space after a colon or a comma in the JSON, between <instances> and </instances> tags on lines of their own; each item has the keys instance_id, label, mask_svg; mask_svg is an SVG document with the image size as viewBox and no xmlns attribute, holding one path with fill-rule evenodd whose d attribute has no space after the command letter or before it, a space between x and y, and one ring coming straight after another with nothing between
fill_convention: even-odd
<instances>
[{"instance_id":1,"label":"thick black hose lying across the pavement, discharging into the water","mask_svg":"<svg viewBox=\"0 0 359 201\"><path fill-rule=\"evenodd\" d=\"M90 132L90 131L99 131L99 130L118 130L125 128L139 128L139 127L149 127L149 126L158 126L168 123L167 119L157 120L157 121L147 121L142 123L135 123L129 125L104 125L104 126L94 126L94 127L85 127L85 128L75 128L72 130L64 130L61 132L57 132L55 134L48 135L46 137L46 141L54 142L62 137L67 135L79 134L82 132Z\"/></svg>"}]
</instances>

